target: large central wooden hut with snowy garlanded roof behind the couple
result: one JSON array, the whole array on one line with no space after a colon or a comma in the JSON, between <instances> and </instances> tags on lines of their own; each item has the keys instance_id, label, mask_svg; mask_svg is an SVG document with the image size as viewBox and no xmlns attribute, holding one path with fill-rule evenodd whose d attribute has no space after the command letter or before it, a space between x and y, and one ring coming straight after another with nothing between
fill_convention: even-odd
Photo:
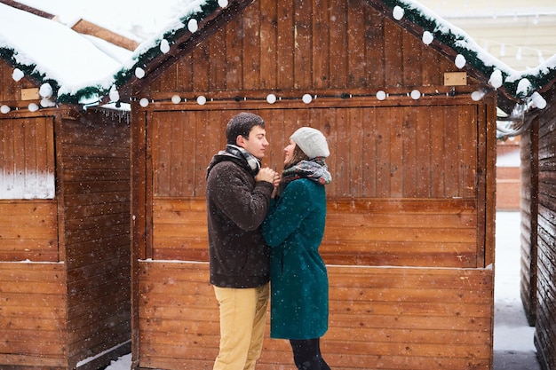
<instances>
[{"instance_id":1,"label":"large central wooden hut with snowy garlanded roof behind the couple","mask_svg":"<svg viewBox=\"0 0 556 370\"><path fill-rule=\"evenodd\" d=\"M415 2L209 0L142 45L115 82L131 100L134 369L218 353L204 177L241 111L265 119L276 169L298 127L329 140L330 366L492 368L496 96L515 86L460 32ZM266 338L258 369L291 367Z\"/></svg>"}]
</instances>

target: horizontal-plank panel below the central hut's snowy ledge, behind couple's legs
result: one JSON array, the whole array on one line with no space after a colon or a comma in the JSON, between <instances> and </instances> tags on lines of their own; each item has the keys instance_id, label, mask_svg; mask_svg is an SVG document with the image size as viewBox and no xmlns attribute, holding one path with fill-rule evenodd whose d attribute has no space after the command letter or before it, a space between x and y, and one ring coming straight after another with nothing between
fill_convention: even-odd
<instances>
[{"instance_id":1,"label":"horizontal-plank panel below the central hut's snowy ledge, behind couple's legs","mask_svg":"<svg viewBox=\"0 0 556 370\"><path fill-rule=\"evenodd\" d=\"M329 265L332 368L489 369L490 269ZM218 305L208 264L141 262L140 368L212 368ZM266 339L258 369L292 369L288 342Z\"/></svg>"}]
</instances>

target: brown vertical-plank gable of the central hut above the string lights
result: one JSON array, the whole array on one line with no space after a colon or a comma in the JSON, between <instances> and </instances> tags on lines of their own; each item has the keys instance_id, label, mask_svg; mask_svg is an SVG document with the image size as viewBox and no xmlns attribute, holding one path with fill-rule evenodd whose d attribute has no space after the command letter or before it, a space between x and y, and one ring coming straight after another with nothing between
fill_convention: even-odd
<instances>
[{"instance_id":1,"label":"brown vertical-plank gable of the central hut above the string lights","mask_svg":"<svg viewBox=\"0 0 556 370\"><path fill-rule=\"evenodd\" d=\"M263 0L171 64L142 93L234 98L242 91L241 98L265 98L266 91L281 91L284 98L299 98L297 91L306 91L339 98L381 89L405 93L415 86L436 94L444 74L455 71L453 60L364 2Z\"/></svg>"}]
</instances>

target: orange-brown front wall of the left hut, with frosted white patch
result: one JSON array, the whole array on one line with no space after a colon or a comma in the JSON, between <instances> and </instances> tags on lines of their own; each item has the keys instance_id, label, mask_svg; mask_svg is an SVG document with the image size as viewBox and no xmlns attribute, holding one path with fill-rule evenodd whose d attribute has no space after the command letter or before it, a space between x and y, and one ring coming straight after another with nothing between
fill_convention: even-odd
<instances>
[{"instance_id":1,"label":"orange-brown front wall of the left hut, with frosted white patch","mask_svg":"<svg viewBox=\"0 0 556 370\"><path fill-rule=\"evenodd\" d=\"M0 72L6 75L6 70L0 62ZM0 91L4 98L15 94L15 88L12 95L9 88ZM54 121L53 116L37 114L0 116L1 368L67 366L67 287L54 193Z\"/></svg>"}]
</instances>

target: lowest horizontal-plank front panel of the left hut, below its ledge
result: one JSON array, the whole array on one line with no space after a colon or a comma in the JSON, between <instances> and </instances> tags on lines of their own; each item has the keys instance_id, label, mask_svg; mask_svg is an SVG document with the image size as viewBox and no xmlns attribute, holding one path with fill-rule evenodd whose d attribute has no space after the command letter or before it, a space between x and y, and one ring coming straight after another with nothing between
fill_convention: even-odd
<instances>
[{"instance_id":1,"label":"lowest horizontal-plank front panel of the left hut, below its ledge","mask_svg":"<svg viewBox=\"0 0 556 370\"><path fill-rule=\"evenodd\" d=\"M67 369L61 263L0 262L0 368Z\"/></svg>"}]
</instances>

